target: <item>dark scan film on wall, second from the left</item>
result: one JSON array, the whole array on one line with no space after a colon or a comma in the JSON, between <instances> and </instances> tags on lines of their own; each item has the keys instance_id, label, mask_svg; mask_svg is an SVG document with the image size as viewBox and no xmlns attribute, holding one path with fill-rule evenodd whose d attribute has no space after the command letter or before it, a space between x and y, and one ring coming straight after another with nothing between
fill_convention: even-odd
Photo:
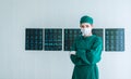
<instances>
[{"instance_id":1,"label":"dark scan film on wall, second from the left","mask_svg":"<svg viewBox=\"0 0 131 79\"><path fill-rule=\"evenodd\" d=\"M62 29L46 28L45 29L45 50L60 51L62 50Z\"/></svg>"}]
</instances>

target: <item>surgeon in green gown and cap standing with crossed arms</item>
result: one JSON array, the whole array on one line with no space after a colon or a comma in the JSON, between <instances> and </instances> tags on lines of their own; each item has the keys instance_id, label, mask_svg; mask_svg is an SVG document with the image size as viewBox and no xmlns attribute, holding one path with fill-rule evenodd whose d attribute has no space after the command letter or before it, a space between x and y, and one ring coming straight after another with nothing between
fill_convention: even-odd
<instances>
[{"instance_id":1,"label":"surgeon in green gown and cap standing with crossed arms","mask_svg":"<svg viewBox=\"0 0 131 79\"><path fill-rule=\"evenodd\" d=\"M74 40L70 51L70 58L74 64L72 79L98 79L97 63L100 61L103 40L92 34L91 16L82 16L80 27L82 36Z\"/></svg>"}]
</instances>

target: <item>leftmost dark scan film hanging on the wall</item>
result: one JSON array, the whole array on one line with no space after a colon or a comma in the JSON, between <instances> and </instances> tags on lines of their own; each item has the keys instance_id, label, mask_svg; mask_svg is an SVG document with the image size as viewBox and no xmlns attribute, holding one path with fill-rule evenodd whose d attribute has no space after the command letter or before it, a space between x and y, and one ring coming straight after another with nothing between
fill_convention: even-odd
<instances>
[{"instance_id":1,"label":"leftmost dark scan film hanging on the wall","mask_svg":"<svg viewBox=\"0 0 131 79\"><path fill-rule=\"evenodd\" d=\"M25 50L43 50L43 29L25 29Z\"/></svg>"}]
</instances>

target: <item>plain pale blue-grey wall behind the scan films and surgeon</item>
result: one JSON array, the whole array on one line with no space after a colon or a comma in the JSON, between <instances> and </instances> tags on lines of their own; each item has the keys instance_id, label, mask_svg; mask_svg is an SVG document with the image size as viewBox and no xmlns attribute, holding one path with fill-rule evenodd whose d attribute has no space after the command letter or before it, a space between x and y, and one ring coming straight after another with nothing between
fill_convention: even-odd
<instances>
[{"instance_id":1,"label":"plain pale blue-grey wall behind the scan films and surgeon","mask_svg":"<svg viewBox=\"0 0 131 79\"><path fill-rule=\"evenodd\" d=\"M69 52L25 51L25 28L79 28L86 14L126 29L126 51L103 52L100 79L131 79L130 0L0 0L0 79L71 79Z\"/></svg>"}]
</instances>

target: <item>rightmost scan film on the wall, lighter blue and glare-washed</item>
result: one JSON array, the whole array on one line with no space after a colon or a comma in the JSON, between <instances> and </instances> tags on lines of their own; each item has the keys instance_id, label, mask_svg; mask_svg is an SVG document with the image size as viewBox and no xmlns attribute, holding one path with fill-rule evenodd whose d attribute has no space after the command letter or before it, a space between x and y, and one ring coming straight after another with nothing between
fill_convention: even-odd
<instances>
[{"instance_id":1,"label":"rightmost scan film on the wall, lighter blue and glare-washed","mask_svg":"<svg viewBox=\"0 0 131 79\"><path fill-rule=\"evenodd\" d=\"M105 51L124 51L124 29L105 30Z\"/></svg>"}]
</instances>

